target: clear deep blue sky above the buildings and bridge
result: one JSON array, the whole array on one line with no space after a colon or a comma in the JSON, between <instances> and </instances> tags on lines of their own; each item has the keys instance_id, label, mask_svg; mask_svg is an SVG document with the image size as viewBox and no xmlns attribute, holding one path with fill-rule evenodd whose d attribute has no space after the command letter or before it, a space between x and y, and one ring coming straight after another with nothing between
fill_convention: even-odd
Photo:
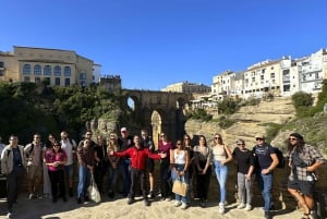
<instances>
[{"instance_id":1,"label":"clear deep blue sky above the buildings and bridge","mask_svg":"<svg viewBox=\"0 0 327 219\"><path fill-rule=\"evenodd\" d=\"M3 0L0 50L73 50L122 87L210 86L227 70L327 48L326 0Z\"/></svg>"}]
</instances>

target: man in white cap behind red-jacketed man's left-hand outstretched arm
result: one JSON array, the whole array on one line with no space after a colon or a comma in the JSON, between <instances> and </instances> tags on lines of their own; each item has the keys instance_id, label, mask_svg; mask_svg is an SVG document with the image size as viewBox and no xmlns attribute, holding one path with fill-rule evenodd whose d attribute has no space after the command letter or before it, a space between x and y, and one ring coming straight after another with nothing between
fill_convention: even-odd
<instances>
[{"instance_id":1,"label":"man in white cap behind red-jacketed man's left-hand outstretched arm","mask_svg":"<svg viewBox=\"0 0 327 219\"><path fill-rule=\"evenodd\" d=\"M129 134L129 130L126 127L122 127L120 130L121 136L118 138L119 151L124 151L125 149L130 148L134 145L133 136ZM119 170L122 175L122 195L126 197L131 187L131 177L130 177L130 158L121 157L119 159Z\"/></svg>"}]
</instances>

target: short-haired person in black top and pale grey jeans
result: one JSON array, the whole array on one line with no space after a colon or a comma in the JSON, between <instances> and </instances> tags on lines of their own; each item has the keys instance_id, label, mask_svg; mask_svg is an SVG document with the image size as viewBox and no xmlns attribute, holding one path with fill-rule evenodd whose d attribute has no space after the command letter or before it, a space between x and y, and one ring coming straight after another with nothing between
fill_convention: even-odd
<instances>
[{"instance_id":1,"label":"short-haired person in black top and pale grey jeans","mask_svg":"<svg viewBox=\"0 0 327 219\"><path fill-rule=\"evenodd\" d=\"M253 186L253 171L254 157L250 149L245 147L244 139L237 141L237 147L232 153L233 159L237 163L238 171L238 209L252 209L252 186Z\"/></svg>"}]
</instances>

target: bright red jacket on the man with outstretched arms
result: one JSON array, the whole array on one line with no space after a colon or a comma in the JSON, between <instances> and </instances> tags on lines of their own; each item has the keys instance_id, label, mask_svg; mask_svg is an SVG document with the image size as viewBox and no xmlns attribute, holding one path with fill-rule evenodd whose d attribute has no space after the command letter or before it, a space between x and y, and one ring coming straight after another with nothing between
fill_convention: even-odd
<instances>
[{"instance_id":1,"label":"bright red jacket on the man with outstretched arms","mask_svg":"<svg viewBox=\"0 0 327 219\"><path fill-rule=\"evenodd\" d=\"M137 170L144 170L146 165L146 158L159 160L161 157L157 154L152 154L148 148L136 148L135 146L130 147L121 153L113 153L114 156L124 157L129 156L131 158L131 167Z\"/></svg>"}]
</instances>

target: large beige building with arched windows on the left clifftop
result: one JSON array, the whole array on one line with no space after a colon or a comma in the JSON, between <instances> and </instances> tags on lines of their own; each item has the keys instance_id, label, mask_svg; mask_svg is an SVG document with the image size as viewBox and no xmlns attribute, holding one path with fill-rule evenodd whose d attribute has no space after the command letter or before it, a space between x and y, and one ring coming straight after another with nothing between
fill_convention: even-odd
<instances>
[{"instance_id":1,"label":"large beige building with arched windows on the left clifftop","mask_svg":"<svg viewBox=\"0 0 327 219\"><path fill-rule=\"evenodd\" d=\"M93 71L93 60L71 50L14 46L13 52L0 52L0 81L87 86Z\"/></svg>"}]
</instances>

